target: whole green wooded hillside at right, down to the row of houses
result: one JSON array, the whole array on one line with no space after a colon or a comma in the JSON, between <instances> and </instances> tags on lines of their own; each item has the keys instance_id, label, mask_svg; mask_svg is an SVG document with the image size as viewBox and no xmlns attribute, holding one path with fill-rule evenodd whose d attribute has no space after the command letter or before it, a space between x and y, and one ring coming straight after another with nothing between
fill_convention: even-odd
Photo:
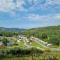
<instances>
[{"instance_id":1,"label":"whole green wooded hillside at right, down to the row of houses","mask_svg":"<svg viewBox=\"0 0 60 60\"><path fill-rule=\"evenodd\" d=\"M49 26L41 28L32 28L26 30L24 34L27 37L34 36L48 43L60 44L60 26Z\"/></svg>"}]
</instances>

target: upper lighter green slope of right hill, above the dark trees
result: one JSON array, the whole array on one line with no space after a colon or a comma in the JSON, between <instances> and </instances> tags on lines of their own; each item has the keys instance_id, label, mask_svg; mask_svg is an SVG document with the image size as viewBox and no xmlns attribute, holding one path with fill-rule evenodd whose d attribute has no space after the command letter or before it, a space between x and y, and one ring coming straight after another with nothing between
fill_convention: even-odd
<instances>
[{"instance_id":1,"label":"upper lighter green slope of right hill, above the dark trees","mask_svg":"<svg viewBox=\"0 0 60 60\"><path fill-rule=\"evenodd\" d=\"M41 28L32 28L29 30L26 30L24 32L25 35L29 36L35 36L41 38L42 36L48 36L48 37L59 37L60 38L60 26L48 26L48 27L41 27Z\"/></svg>"}]
</instances>

